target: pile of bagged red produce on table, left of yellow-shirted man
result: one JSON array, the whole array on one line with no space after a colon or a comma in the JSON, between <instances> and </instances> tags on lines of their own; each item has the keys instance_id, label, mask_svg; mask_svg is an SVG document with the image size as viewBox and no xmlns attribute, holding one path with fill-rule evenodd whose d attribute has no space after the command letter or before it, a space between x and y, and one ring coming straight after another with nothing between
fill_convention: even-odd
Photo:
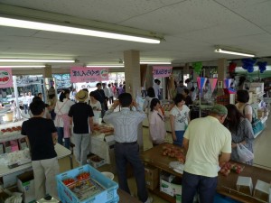
<instances>
[{"instance_id":1,"label":"pile of bagged red produce on table, left of yellow-shirted man","mask_svg":"<svg viewBox=\"0 0 271 203\"><path fill-rule=\"evenodd\" d=\"M184 163L185 162L185 156L183 154L183 149L181 147L176 147L171 143L166 144L163 146L163 152L162 154L164 156L169 156L172 158L176 158L178 161Z\"/></svg>"}]
</instances>

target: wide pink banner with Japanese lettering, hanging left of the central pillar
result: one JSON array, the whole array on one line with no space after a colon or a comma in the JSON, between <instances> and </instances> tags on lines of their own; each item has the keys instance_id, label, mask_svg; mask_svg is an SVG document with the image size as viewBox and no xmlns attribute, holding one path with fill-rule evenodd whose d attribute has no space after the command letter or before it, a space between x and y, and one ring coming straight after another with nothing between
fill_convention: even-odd
<instances>
[{"instance_id":1,"label":"wide pink banner with Japanese lettering, hanging left of the central pillar","mask_svg":"<svg viewBox=\"0 0 271 203\"><path fill-rule=\"evenodd\" d=\"M71 67L70 81L77 82L97 82L108 80L107 68L86 68L86 67Z\"/></svg>"}]
</instances>

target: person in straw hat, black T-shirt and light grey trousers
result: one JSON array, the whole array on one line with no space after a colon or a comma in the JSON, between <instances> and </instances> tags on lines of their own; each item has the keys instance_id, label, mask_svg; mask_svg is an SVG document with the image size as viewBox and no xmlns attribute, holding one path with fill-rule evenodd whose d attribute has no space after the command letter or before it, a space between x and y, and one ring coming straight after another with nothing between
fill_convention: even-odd
<instances>
[{"instance_id":1,"label":"person in straw hat, black T-shirt and light grey trousers","mask_svg":"<svg viewBox=\"0 0 271 203\"><path fill-rule=\"evenodd\" d=\"M78 103L70 107L70 125L73 122L73 142L75 144L75 159L79 165L87 163L88 148L91 129L93 129L93 111L91 106L85 103L89 97L87 91L79 90L76 94ZM90 129L90 132L89 132Z\"/></svg>"}]
</instances>

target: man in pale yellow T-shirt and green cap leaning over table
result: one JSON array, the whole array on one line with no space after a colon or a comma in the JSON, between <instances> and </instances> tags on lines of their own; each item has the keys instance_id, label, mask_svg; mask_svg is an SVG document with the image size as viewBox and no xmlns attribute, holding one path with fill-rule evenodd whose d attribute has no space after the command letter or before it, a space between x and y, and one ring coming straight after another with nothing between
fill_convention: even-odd
<instances>
[{"instance_id":1,"label":"man in pale yellow T-shirt and green cap leaning over table","mask_svg":"<svg viewBox=\"0 0 271 203\"><path fill-rule=\"evenodd\" d=\"M213 202L218 183L218 167L229 161L231 134L222 125L228 115L225 106L215 105L207 117L192 120L183 137L187 151L182 175L182 203L193 201L196 191L201 203Z\"/></svg>"}]
</instances>

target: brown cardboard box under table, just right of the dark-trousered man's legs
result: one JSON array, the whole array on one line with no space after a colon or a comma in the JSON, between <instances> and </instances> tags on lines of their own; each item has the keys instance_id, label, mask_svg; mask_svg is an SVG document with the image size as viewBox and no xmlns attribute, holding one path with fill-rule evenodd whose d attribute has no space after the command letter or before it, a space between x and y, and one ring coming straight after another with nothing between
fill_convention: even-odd
<instances>
[{"instance_id":1,"label":"brown cardboard box under table, just right of the dark-trousered man's legs","mask_svg":"<svg viewBox=\"0 0 271 203\"><path fill-rule=\"evenodd\" d=\"M159 184L158 169L153 166L145 166L145 184L148 189L156 189Z\"/></svg>"}]
</instances>

